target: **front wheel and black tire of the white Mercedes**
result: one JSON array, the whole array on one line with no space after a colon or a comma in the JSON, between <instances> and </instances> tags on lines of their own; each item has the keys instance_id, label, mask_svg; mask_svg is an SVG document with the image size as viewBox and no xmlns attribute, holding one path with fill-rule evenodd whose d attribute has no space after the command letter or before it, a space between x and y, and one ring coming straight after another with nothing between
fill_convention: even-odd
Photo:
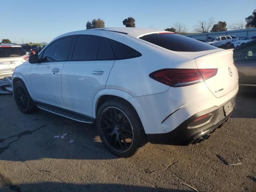
<instances>
[{"instance_id":1,"label":"front wheel and black tire of the white Mercedes","mask_svg":"<svg viewBox=\"0 0 256 192\"><path fill-rule=\"evenodd\" d=\"M15 82L13 86L13 94L14 100L21 112L30 114L38 110L22 80Z\"/></svg>"}]
</instances>

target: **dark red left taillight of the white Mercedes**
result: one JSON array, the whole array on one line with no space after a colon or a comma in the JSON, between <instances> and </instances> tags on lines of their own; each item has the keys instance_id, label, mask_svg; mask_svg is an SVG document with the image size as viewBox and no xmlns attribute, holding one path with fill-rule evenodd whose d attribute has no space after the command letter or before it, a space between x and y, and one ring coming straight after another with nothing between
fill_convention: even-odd
<instances>
[{"instance_id":1,"label":"dark red left taillight of the white Mercedes","mask_svg":"<svg viewBox=\"0 0 256 192\"><path fill-rule=\"evenodd\" d=\"M217 74L218 69L161 69L152 72L150 78L172 87L200 83Z\"/></svg>"}]
</instances>

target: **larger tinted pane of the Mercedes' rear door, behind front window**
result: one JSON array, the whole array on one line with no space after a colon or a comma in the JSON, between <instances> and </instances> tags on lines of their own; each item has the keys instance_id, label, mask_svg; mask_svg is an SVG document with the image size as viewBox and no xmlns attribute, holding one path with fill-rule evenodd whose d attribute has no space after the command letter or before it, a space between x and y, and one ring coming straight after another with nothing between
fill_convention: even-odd
<instances>
[{"instance_id":1,"label":"larger tinted pane of the Mercedes' rear door, behind front window","mask_svg":"<svg viewBox=\"0 0 256 192\"><path fill-rule=\"evenodd\" d=\"M78 36L74 47L72 60L96 60L100 37Z\"/></svg>"}]
</instances>

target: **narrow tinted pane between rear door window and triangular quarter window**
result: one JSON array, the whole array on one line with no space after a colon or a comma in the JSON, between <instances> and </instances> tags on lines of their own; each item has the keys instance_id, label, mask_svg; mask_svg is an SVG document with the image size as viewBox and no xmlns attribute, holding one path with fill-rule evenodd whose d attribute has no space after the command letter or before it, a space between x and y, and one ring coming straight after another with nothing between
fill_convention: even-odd
<instances>
[{"instance_id":1,"label":"narrow tinted pane between rear door window and triangular quarter window","mask_svg":"<svg viewBox=\"0 0 256 192\"><path fill-rule=\"evenodd\" d=\"M102 38L100 48L98 50L97 60L114 60L109 40Z\"/></svg>"}]
</instances>

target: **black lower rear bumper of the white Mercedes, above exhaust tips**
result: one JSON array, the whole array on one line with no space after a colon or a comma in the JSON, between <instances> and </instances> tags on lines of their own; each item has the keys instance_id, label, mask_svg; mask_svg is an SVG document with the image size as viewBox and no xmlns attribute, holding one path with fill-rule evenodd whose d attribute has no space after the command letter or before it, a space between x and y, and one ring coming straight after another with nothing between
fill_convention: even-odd
<instances>
[{"instance_id":1,"label":"black lower rear bumper of the white Mercedes, above exhaust tips","mask_svg":"<svg viewBox=\"0 0 256 192\"><path fill-rule=\"evenodd\" d=\"M231 101L233 111L236 106L235 99L236 96L228 101ZM233 111L228 116L225 116L223 109L223 106L228 102L225 102L224 104L219 106L218 109L209 108L207 110L203 110L199 113L194 114L171 132L163 134L147 134L148 142L155 144L188 145L200 138L204 138L204 136L208 136L208 134L214 132L217 127L221 126L230 117ZM198 128L188 128L189 124L193 122L196 118L208 113L213 114L210 122Z\"/></svg>"}]
</instances>

